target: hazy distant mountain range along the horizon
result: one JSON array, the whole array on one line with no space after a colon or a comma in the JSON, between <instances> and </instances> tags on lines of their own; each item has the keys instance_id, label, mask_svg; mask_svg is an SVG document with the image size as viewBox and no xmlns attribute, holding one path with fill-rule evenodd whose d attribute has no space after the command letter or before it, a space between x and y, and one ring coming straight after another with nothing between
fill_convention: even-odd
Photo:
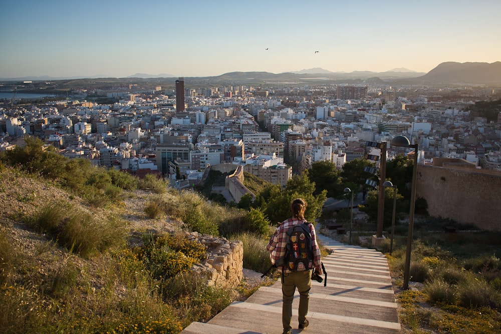
<instances>
[{"instance_id":1,"label":"hazy distant mountain range along the horizon","mask_svg":"<svg viewBox=\"0 0 501 334\"><path fill-rule=\"evenodd\" d=\"M87 78L108 78L105 75L93 75ZM136 73L125 78L159 79L173 78L172 74ZM27 76L18 78L0 78L0 80L66 80L85 78L78 77L51 77ZM494 84L501 85L501 61L487 62L442 62L428 73L416 72L407 68L393 68L385 72L353 71L331 72L315 67L285 73L270 72L228 72L218 76L185 77L192 82L241 82L249 84L263 83L390 83L390 84Z\"/></svg>"}]
</instances>

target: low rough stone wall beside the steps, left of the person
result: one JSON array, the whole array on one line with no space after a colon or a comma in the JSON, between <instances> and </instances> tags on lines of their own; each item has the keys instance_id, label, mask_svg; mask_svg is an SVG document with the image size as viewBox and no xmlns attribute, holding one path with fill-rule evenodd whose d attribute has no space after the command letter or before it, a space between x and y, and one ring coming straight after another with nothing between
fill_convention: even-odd
<instances>
[{"instance_id":1,"label":"low rough stone wall beside the steps, left of the person","mask_svg":"<svg viewBox=\"0 0 501 334\"><path fill-rule=\"evenodd\" d=\"M194 264L192 272L207 278L210 286L236 286L243 279L243 243L223 237L192 232L190 240L196 239L207 248L207 257Z\"/></svg>"}]
</instances>

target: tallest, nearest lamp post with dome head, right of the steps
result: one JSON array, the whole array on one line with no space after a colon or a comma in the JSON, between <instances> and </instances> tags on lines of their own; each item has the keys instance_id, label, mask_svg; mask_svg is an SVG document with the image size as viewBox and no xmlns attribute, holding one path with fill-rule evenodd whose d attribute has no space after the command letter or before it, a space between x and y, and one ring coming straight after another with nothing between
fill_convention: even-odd
<instances>
[{"instance_id":1,"label":"tallest, nearest lamp post with dome head, right of the steps","mask_svg":"<svg viewBox=\"0 0 501 334\"><path fill-rule=\"evenodd\" d=\"M410 190L410 211L409 211L409 232L407 235L407 251L405 252L404 282L403 289L409 288L410 253L412 250L412 230L414 228L414 207L416 202L416 178L417 178L417 149L418 145L411 144L409 139L403 135L397 135L390 142L393 146L414 148L414 166L412 168L412 185Z\"/></svg>"}]
</instances>

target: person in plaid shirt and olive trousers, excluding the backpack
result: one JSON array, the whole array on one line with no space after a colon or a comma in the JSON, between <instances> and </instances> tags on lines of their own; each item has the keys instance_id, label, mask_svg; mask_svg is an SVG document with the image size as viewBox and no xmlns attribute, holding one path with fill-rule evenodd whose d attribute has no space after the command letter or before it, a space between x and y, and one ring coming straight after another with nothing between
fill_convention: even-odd
<instances>
[{"instance_id":1,"label":"person in plaid shirt and olive trousers, excluding the backpack","mask_svg":"<svg viewBox=\"0 0 501 334\"><path fill-rule=\"evenodd\" d=\"M275 233L272 235L270 242L266 246L266 249L270 252L270 259L272 261L272 264L280 263L280 260L285 255L286 244L288 241L288 229L291 226L297 224L307 223L312 240L313 263L311 263L309 268L304 268L304 270L301 271L289 270L287 263L284 263L285 265L277 266L277 268L282 273L282 324L284 327L283 334L292 333L292 302L294 300L294 292L296 291L296 288L300 293L298 309L299 328L303 329L309 325L309 321L306 316L308 315L308 306L310 303L312 269L315 269L315 271L319 275L322 275L320 248L317 243L315 227L312 223L307 222L307 220L305 219L305 210L307 205L307 202L302 198L294 199L291 203L291 211L293 217L279 223L279 226L275 230Z\"/></svg>"}]
</instances>

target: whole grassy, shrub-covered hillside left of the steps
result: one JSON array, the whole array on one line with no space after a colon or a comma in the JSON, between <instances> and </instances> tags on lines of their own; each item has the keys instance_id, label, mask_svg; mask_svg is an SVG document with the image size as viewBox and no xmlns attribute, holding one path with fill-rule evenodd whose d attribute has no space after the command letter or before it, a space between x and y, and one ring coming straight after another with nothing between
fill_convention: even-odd
<instances>
[{"instance_id":1,"label":"whole grassy, shrub-covered hillside left of the steps","mask_svg":"<svg viewBox=\"0 0 501 334\"><path fill-rule=\"evenodd\" d=\"M34 138L0 154L0 173L5 333L178 333L254 288L207 286L190 274L205 249L184 232L218 235L234 224L243 233L259 215L67 159Z\"/></svg>"}]
</instances>

